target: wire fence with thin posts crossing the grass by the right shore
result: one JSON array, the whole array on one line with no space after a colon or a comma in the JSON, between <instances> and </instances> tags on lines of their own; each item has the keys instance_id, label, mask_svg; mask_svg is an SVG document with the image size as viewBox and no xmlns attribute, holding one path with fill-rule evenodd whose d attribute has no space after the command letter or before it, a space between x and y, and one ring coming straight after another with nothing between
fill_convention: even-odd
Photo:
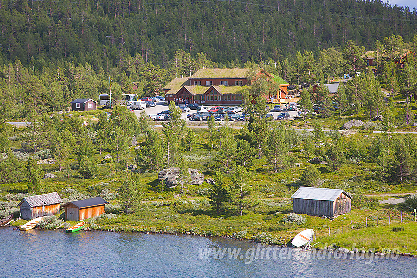
<instances>
[{"instance_id":1,"label":"wire fence with thin posts crossing the grass by the right shore","mask_svg":"<svg viewBox=\"0 0 417 278\"><path fill-rule=\"evenodd\" d=\"M401 213L390 214L383 217L372 215L361 221L347 221L345 224L342 224L341 227L326 227L317 229L314 233L314 240L317 239L317 237L331 236L339 233L355 231L362 228L379 227L409 222L416 222L416 212L404 213L401 211Z\"/></svg>"}]
</instances>

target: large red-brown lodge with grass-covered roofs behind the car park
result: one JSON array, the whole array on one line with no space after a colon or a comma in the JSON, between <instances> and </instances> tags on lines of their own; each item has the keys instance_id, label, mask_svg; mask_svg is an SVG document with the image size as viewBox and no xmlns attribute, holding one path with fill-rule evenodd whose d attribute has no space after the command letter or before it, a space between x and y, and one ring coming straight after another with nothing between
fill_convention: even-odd
<instances>
[{"instance_id":1,"label":"large red-brown lodge with grass-covered roofs behind the car park","mask_svg":"<svg viewBox=\"0 0 417 278\"><path fill-rule=\"evenodd\" d=\"M240 105L243 90L251 87L246 83L246 75L251 70L253 69L201 69L190 77L175 78L162 89L165 92L165 101L174 101L177 104ZM279 85L276 94L264 97L271 102L285 99L289 84L263 69L258 69L252 81L262 75Z\"/></svg>"}]
</instances>

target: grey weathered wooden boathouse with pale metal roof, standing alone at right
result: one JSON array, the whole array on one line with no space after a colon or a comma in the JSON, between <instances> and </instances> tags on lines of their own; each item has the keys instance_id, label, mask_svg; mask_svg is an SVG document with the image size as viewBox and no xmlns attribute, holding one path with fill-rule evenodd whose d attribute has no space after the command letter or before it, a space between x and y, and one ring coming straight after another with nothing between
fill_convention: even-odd
<instances>
[{"instance_id":1,"label":"grey weathered wooden boathouse with pale metal roof, standing alone at right","mask_svg":"<svg viewBox=\"0 0 417 278\"><path fill-rule=\"evenodd\" d=\"M334 217L352 211L352 196L341 189L301 186L291 198L298 214Z\"/></svg>"}]
</instances>

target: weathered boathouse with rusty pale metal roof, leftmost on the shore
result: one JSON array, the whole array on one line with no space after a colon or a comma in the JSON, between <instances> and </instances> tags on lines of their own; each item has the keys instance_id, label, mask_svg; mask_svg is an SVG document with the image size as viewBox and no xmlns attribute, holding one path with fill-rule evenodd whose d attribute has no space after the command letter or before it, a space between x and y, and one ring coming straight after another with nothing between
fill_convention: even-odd
<instances>
[{"instance_id":1,"label":"weathered boathouse with rusty pale metal roof, leftmost on the shore","mask_svg":"<svg viewBox=\"0 0 417 278\"><path fill-rule=\"evenodd\" d=\"M32 220L36 217L50 216L59 213L61 197L58 193L52 192L42 195L27 196L19 202L20 217Z\"/></svg>"}]
</instances>

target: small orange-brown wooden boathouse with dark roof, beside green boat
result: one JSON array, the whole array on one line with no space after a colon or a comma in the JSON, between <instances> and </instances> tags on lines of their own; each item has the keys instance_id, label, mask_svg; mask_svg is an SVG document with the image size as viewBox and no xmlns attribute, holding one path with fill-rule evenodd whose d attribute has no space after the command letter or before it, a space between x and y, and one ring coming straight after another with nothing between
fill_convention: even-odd
<instances>
[{"instance_id":1,"label":"small orange-brown wooden boathouse with dark roof, beside green boat","mask_svg":"<svg viewBox=\"0 0 417 278\"><path fill-rule=\"evenodd\" d=\"M79 221L101 215L105 212L106 203L109 202L101 197L67 202L63 205L65 207L65 219Z\"/></svg>"}]
</instances>

